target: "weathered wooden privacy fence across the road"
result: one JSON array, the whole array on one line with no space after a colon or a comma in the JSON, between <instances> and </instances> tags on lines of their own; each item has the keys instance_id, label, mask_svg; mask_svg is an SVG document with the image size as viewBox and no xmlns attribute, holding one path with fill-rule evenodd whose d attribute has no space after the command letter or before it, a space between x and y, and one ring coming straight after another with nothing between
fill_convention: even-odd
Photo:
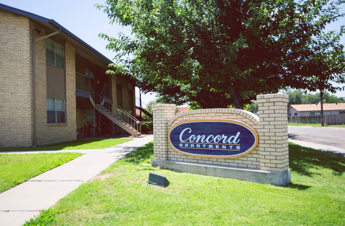
<instances>
[{"instance_id":1,"label":"weathered wooden privacy fence across the road","mask_svg":"<svg viewBox=\"0 0 345 226\"><path fill-rule=\"evenodd\" d=\"M321 124L321 115L288 116L287 120L288 122L291 122L291 123L320 123ZM345 114L324 115L324 124L326 125L345 124Z\"/></svg>"}]
</instances>

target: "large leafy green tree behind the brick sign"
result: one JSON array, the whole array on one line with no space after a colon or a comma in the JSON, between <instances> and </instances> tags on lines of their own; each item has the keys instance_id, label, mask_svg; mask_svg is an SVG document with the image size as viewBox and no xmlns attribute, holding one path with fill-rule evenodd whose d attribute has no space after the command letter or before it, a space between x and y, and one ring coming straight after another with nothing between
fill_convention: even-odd
<instances>
[{"instance_id":1,"label":"large leafy green tree behind the brick sign","mask_svg":"<svg viewBox=\"0 0 345 226\"><path fill-rule=\"evenodd\" d=\"M341 80L344 30L324 30L344 16L338 8L342 3L108 0L97 7L112 23L132 29L132 37L100 34L117 52L114 73L135 76L141 90L158 93L160 101L240 109L260 93L309 88L315 76L327 82L328 90L333 87L328 80ZM327 57L319 54L325 48ZM332 59L339 59L337 66ZM326 76L305 74L320 62Z\"/></svg>"}]
</instances>

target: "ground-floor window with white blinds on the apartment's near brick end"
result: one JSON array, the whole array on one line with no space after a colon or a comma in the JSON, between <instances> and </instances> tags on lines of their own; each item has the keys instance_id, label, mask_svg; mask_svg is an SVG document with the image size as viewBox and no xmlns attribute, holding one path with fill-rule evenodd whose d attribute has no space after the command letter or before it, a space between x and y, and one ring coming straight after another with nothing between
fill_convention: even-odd
<instances>
[{"instance_id":1,"label":"ground-floor window with white blinds on the apartment's near brick end","mask_svg":"<svg viewBox=\"0 0 345 226\"><path fill-rule=\"evenodd\" d=\"M47 122L66 123L65 100L47 97Z\"/></svg>"}]
</instances>

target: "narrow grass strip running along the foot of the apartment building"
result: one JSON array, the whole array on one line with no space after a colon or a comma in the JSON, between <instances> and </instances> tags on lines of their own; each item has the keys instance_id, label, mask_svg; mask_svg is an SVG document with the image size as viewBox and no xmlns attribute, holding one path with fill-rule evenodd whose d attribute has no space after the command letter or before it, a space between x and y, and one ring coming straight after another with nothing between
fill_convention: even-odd
<instances>
[{"instance_id":1,"label":"narrow grass strip running along the foot of the apartment building","mask_svg":"<svg viewBox=\"0 0 345 226\"><path fill-rule=\"evenodd\" d=\"M117 138L117 139L83 139L70 141L59 144L45 145L40 147L13 147L13 148L0 148L3 151L44 151L44 150L73 150L73 149L101 149L106 147L115 146L127 141L133 140L132 138Z\"/></svg>"}]
</instances>

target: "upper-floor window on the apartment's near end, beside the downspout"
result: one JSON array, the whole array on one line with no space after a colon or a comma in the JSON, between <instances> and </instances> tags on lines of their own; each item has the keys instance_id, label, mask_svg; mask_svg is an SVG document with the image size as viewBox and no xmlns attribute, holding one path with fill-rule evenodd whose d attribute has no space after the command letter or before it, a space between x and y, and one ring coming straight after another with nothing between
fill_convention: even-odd
<instances>
[{"instance_id":1,"label":"upper-floor window on the apartment's near end, beside the downspout","mask_svg":"<svg viewBox=\"0 0 345 226\"><path fill-rule=\"evenodd\" d=\"M46 39L46 62L59 68L65 68L63 46L51 39Z\"/></svg>"}]
</instances>

